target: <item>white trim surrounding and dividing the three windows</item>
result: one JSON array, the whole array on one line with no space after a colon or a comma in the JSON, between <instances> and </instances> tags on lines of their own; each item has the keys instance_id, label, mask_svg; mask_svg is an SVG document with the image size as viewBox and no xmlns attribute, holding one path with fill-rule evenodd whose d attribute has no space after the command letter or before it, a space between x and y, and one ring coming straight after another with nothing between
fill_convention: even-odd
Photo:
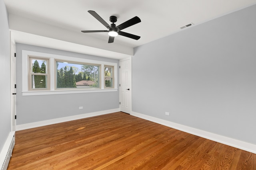
<instances>
[{"instance_id":1,"label":"white trim surrounding and dividing the three windows","mask_svg":"<svg viewBox=\"0 0 256 170\"><path fill-rule=\"evenodd\" d=\"M49 71L50 71L50 90L28 90L28 56L44 57L49 58ZM94 63L101 65L101 88L100 89L64 89L64 90L55 90L54 88L54 59L58 60L67 60L81 63ZM104 65L114 66L114 88L105 89L104 81ZM103 75L103 76L102 76ZM81 59L76 57L68 57L62 55L54 55L48 53L40 53L35 51L26 51L22 50L22 96L35 96L35 95L51 95L51 94L74 94L74 93L93 93L93 92L116 92L117 91L117 63L110 63L105 61L96 61L89 59Z\"/></svg>"}]
</instances>

